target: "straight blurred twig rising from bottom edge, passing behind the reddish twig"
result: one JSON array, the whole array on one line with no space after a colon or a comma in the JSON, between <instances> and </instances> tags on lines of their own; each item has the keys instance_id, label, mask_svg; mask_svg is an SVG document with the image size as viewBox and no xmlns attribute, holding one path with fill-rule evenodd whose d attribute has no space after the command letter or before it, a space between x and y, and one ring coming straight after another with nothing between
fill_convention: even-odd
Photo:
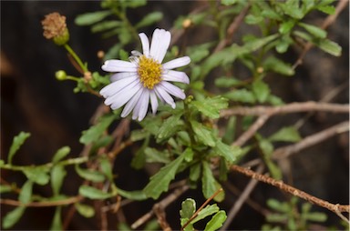
<instances>
[{"instance_id":1,"label":"straight blurred twig rising from bottom edge, passing behind the reddish twig","mask_svg":"<svg viewBox=\"0 0 350 231\"><path fill-rule=\"evenodd\" d=\"M260 166L258 166L258 169L256 170L256 172L258 174L261 174L262 171L263 171L263 165L260 164ZM243 203L251 195L252 190L255 188L255 186L257 184L258 184L257 180L251 179L251 181L248 183L248 185L244 188L241 196L238 198L236 203L234 203L234 206L232 206L232 208L230 209L230 212L227 215L227 219L226 219L225 223L223 224L223 226L221 227L222 230L228 230L228 227L230 226L234 216L236 216L238 214L238 212L240 211Z\"/></svg>"}]
</instances>

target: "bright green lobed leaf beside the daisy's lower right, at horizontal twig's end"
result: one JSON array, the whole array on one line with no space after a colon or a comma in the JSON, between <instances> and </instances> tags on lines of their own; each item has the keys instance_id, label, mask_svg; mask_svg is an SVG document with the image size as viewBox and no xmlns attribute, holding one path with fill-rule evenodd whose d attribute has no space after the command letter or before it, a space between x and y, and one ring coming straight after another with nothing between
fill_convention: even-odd
<instances>
[{"instance_id":1,"label":"bright green lobed leaf beside the daisy's lower right, at horizontal twig's end","mask_svg":"<svg viewBox=\"0 0 350 231\"><path fill-rule=\"evenodd\" d=\"M191 105L194 105L204 116L219 118L220 110L227 108L229 104L226 98L217 95L203 100L193 100Z\"/></svg>"}]
</instances>

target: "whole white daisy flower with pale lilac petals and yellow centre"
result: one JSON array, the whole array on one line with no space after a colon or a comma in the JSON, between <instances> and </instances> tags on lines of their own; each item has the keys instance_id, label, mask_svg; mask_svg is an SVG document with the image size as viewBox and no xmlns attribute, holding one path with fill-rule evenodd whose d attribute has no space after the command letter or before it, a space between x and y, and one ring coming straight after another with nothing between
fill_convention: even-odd
<instances>
[{"instance_id":1,"label":"whole white daisy flower with pale lilac petals and yellow centre","mask_svg":"<svg viewBox=\"0 0 350 231\"><path fill-rule=\"evenodd\" d=\"M184 99L186 95L171 82L190 84L189 77L184 72L172 69L190 64L190 57L183 56L161 64L170 45L171 35L169 31L156 29L149 39L144 33L139 34L143 54L132 51L130 62L122 60L108 60L102 65L107 72L116 73L110 77L109 85L99 92L106 98L105 105L110 105L113 110L125 105L121 116L128 116L131 111L132 119L141 121L149 109L149 101L152 113L158 108L158 99L175 108L171 95Z\"/></svg>"}]
</instances>

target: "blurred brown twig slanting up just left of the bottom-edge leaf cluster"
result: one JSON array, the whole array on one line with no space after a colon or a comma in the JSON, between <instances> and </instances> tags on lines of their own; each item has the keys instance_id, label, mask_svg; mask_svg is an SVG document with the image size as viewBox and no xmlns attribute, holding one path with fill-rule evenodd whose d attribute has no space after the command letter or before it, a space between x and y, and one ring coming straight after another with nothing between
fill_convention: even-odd
<instances>
[{"instance_id":1,"label":"blurred brown twig slanting up just left of the bottom-edge leaf cluster","mask_svg":"<svg viewBox=\"0 0 350 231\"><path fill-rule=\"evenodd\" d=\"M181 186L178 189L175 189L169 196L162 199L159 203L155 204L154 206L160 206L162 208L165 208L170 205L170 203L174 202L181 194L183 194L185 191L187 191L190 188L190 186L184 185ZM153 206L153 207L154 207ZM150 210L147 214L139 217L137 221L135 221L132 225L132 229L137 229L139 226L142 226L146 221L149 220L150 217L154 215L153 209Z\"/></svg>"}]
</instances>

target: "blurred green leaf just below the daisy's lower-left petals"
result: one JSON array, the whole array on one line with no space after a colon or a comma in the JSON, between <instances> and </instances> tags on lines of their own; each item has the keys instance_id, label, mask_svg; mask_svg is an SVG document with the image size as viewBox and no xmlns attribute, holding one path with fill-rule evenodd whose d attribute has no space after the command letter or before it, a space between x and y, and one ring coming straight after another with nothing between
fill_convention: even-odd
<instances>
[{"instance_id":1,"label":"blurred green leaf just below the daisy's lower-left petals","mask_svg":"<svg viewBox=\"0 0 350 231\"><path fill-rule=\"evenodd\" d=\"M88 145L91 142L97 141L99 136L102 136L104 131L117 117L118 116L115 114L101 117L97 125L91 126L88 130L83 131L82 136L79 139L80 143Z\"/></svg>"}]
</instances>

